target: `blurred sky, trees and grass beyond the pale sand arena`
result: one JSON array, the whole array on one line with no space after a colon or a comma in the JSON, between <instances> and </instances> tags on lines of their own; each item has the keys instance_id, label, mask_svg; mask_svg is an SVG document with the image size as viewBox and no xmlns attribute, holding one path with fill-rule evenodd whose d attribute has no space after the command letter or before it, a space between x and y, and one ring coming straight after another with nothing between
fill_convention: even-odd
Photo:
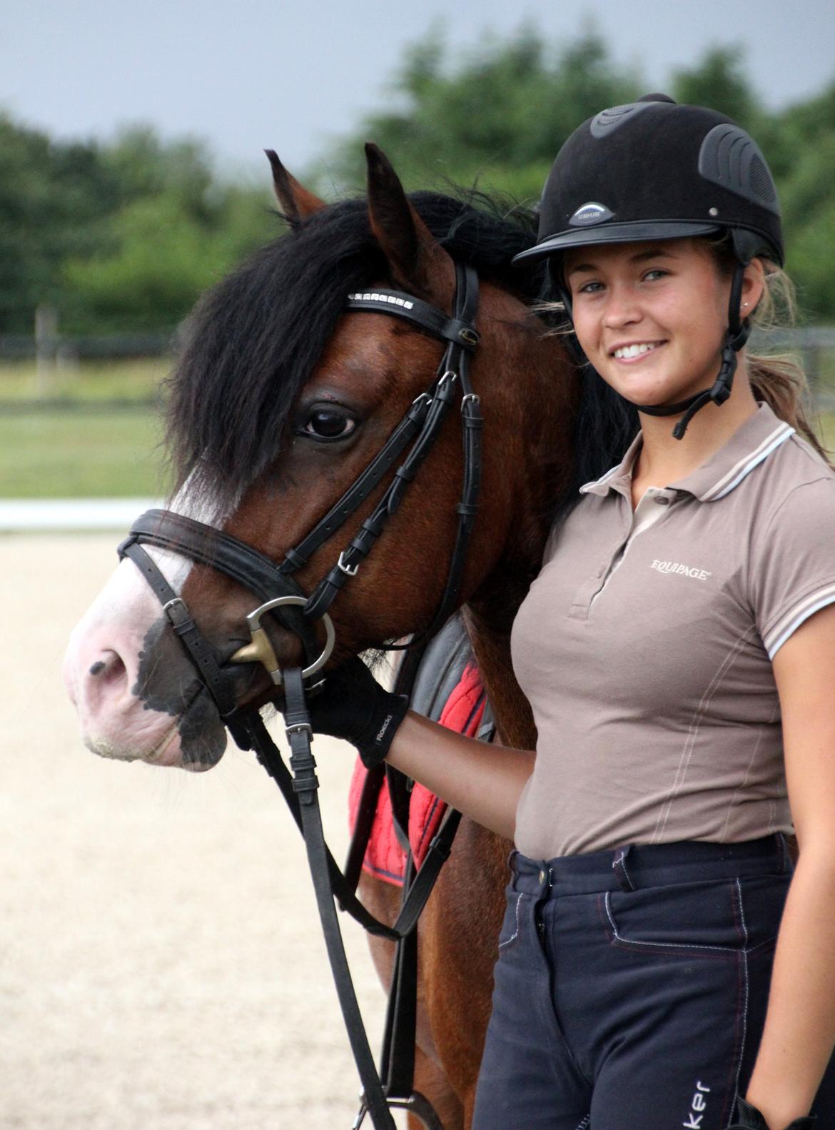
<instances>
[{"instance_id":1,"label":"blurred sky, trees and grass beyond the pale sand arena","mask_svg":"<svg viewBox=\"0 0 835 1130\"><path fill-rule=\"evenodd\" d=\"M264 147L328 199L362 142L409 188L533 203L584 118L723 111L783 202L802 351L835 382L835 2L251 0L0 14L0 492L156 495L159 382L202 289L280 234ZM782 345L782 342L781 342ZM92 520L92 519L90 519Z\"/></svg>"}]
</instances>

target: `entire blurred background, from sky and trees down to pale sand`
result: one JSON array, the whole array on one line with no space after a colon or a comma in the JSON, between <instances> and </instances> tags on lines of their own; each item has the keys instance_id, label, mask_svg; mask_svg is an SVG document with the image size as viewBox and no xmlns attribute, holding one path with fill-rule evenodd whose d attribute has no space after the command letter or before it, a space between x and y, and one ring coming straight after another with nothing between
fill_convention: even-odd
<instances>
[{"instance_id":1,"label":"entire blurred background, from sky and trees down to pale sand","mask_svg":"<svg viewBox=\"0 0 835 1130\"><path fill-rule=\"evenodd\" d=\"M281 234L262 149L327 199L362 191L371 139L410 189L532 205L583 119L650 90L764 149L800 306L771 345L802 357L835 447L835 0L3 0L2 1127L347 1127L355 1110L266 775L235 751L199 777L93 758L59 676L116 541L166 492L177 327ZM318 751L338 850L350 759Z\"/></svg>"}]
</instances>

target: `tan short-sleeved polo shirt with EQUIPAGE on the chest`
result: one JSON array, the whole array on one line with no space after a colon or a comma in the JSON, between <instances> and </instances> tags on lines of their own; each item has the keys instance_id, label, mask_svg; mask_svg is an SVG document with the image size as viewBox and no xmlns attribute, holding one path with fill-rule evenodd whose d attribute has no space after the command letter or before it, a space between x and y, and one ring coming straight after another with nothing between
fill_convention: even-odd
<instances>
[{"instance_id":1,"label":"tan short-sleeved polo shirt with EQUIPAGE on the chest","mask_svg":"<svg viewBox=\"0 0 835 1130\"><path fill-rule=\"evenodd\" d=\"M762 405L633 512L640 445L582 487L513 625L534 859L792 827L771 660L835 602L835 472Z\"/></svg>"}]
</instances>

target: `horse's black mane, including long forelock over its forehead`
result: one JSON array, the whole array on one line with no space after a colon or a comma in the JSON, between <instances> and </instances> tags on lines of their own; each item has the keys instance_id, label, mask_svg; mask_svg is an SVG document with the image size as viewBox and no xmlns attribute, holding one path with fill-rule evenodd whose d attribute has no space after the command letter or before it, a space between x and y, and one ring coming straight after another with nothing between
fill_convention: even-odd
<instances>
[{"instance_id":1,"label":"horse's black mane, including long forelock over its forehead","mask_svg":"<svg viewBox=\"0 0 835 1130\"><path fill-rule=\"evenodd\" d=\"M534 242L531 212L473 192L461 199L416 192L410 200L454 259L523 302L547 296L541 262L511 266ZM366 201L347 200L262 247L201 298L169 381L167 436L180 483L198 469L223 504L266 470L346 295L386 273ZM584 403L579 483L611 466L634 431L601 381L589 382Z\"/></svg>"}]
</instances>

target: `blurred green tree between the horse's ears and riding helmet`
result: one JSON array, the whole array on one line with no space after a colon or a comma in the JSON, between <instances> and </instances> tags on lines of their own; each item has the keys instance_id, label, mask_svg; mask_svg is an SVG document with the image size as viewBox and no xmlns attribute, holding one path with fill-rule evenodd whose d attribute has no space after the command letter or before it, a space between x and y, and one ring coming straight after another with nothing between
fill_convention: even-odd
<instances>
[{"instance_id":1,"label":"blurred green tree between the horse's ears and riding helmet","mask_svg":"<svg viewBox=\"0 0 835 1130\"><path fill-rule=\"evenodd\" d=\"M319 185L358 188L362 141L369 139L409 186L480 181L533 200L577 123L638 90L637 77L617 67L594 32L555 52L527 26L510 42L487 37L450 60L434 28L407 51L392 82L397 108L367 116L339 144Z\"/></svg>"}]
</instances>

